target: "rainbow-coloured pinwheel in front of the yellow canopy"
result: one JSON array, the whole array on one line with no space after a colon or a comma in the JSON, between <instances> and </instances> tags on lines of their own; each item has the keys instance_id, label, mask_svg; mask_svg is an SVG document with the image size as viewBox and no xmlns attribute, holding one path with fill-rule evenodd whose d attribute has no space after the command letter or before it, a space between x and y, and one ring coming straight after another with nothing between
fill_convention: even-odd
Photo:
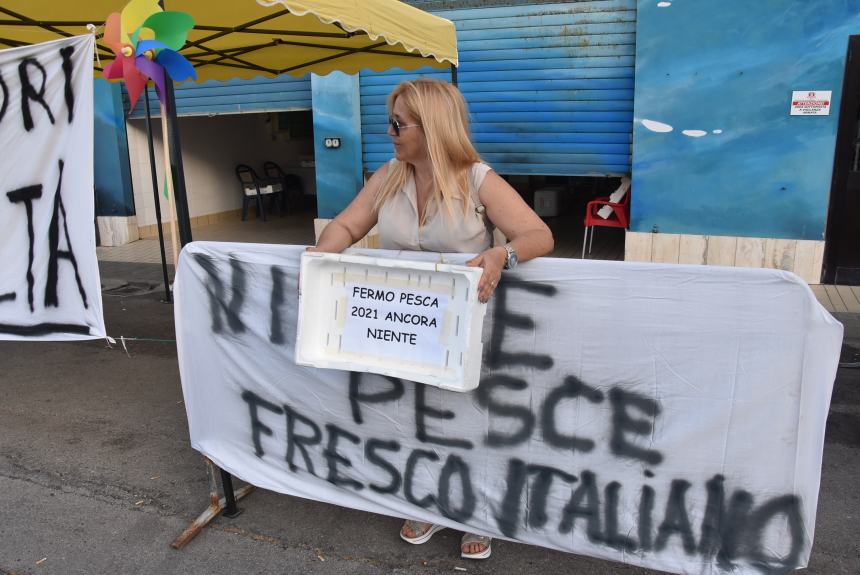
<instances>
[{"instance_id":1,"label":"rainbow-coloured pinwheel in front of the yellow canopy","mask_svg":"<svg viewBox=\"0 0 860 575\"><path fill-rule=\"evenodd\" d=\"M184 12L165 12L157 0L131 0L105 22L104 41L116 54L105 66L108 80L124 79L131 107L149 80L164 103L164 73L176 82L197 79L194 66L179 53L194 19Z\"/></svg>"}]
</instances>

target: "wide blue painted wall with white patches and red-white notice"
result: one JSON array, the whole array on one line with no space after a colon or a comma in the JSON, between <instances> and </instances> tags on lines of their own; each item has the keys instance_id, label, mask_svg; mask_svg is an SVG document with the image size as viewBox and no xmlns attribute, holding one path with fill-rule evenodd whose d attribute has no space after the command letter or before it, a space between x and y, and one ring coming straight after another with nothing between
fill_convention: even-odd
<instances>
[{"instance_id":1,"label":"wide blue painted wall with white patches and red-white notice","mask_svg":"<svg viewBox=\"0 0 860 575\"><path fill-rule=\"evenodd\" d=\"M860 0L662 3L638 4L630 229L823 239ZM830 115L790 116L794 90Z\"/></svg>"}]
</instances>

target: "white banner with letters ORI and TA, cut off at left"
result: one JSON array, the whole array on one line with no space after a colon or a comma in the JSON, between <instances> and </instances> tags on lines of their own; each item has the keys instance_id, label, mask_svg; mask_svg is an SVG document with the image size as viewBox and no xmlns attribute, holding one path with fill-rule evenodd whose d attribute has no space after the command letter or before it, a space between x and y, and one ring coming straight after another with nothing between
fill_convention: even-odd
<instances>
[{"instance_id":1,"label":"white banner with letters ORI and TA, cut off at left","mask_svg":"<svg viewBox=\"0 0 860 575\"><path fill-rule=\"evenodd\" d=\"M105 336L92 35L0 50L0 339Z\"/></svg>"}]
</instances>

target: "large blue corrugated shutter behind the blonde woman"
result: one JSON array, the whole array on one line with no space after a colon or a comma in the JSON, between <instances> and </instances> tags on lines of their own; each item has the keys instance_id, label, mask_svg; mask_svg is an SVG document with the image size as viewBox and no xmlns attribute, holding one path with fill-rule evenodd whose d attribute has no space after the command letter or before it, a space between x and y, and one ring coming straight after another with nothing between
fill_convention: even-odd
<instances>
[{"instance_id":1,"label":"large blue corrugated shutter behind the blonde woman","mask_svg":"<svg viewBox=\"0 0 860 575\"><path fill-rule=\"evenodd\" d=\"M503 174L630 172L636 0L434 11L455 22L458 80L481 156ZM364 163L392 157L385 98L419 75L361 74Z\"/></svg>"}]
</instances>

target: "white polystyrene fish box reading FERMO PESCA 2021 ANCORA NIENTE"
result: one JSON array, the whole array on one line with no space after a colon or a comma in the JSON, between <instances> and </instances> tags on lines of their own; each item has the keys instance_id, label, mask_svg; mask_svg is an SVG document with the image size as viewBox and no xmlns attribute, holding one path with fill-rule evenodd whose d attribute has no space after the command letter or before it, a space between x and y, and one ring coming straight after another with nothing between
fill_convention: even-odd
<instances>
[{"instance_id":1,"label":"white polystyrene fish box reading FERMO PESCA 2021 ANCORA NIENTE","mask_svg":"<svg viewBox=\"0 0 860 575\"><path fill-rule=\"evenodd\" d=\"M478 386L481 268L302 254L296 363L454 391Z\"/></svg>"}]
</instances>

